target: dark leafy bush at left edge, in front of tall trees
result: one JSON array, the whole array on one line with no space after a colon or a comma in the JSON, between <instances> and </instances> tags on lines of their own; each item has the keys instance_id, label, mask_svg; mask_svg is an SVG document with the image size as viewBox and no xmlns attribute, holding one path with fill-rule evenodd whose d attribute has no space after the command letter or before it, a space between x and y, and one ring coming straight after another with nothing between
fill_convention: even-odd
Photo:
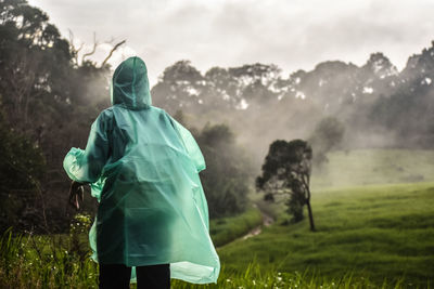
<instances>
[{"instance_id":1,"label":"dark leafy bush at left edge, in front of tall trees","mask_svg":"<svg viewBox=\"0 0 434 289\"><path fill-rule=\"evenodd\" d=\"M1 111L0 111L1 113ZM40 180L46 172L41 149L11 129L0 114L0 232L43 224L31 209L41 201Z\"/></svg>"}]
</instances>

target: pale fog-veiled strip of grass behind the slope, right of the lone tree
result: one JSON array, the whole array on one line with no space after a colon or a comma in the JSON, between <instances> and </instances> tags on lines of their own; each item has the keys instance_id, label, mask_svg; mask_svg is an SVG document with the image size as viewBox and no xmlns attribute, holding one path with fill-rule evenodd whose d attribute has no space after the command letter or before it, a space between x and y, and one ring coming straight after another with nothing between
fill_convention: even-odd
<instances>
[{"instance_id":1,"label":"pale fog-veiled strip of grass behind the slope, right of the lone tree","mask_svg":"<svg viewBox=\"0 0 434 289\"><path fill-rule=\"evenodd\" d=\"M332 152L314 169L314 189L411 182L434 182L434 150L356 149Z\"/></svg>"}]
</instances>

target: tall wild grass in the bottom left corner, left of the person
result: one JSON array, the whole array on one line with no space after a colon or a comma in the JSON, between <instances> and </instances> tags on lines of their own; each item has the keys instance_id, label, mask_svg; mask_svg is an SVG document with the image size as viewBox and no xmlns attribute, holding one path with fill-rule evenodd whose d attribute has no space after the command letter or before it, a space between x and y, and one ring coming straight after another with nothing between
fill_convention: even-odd
<instances>
[{"instance_id":1,"label":"tall wild grass in the bottom left corner, left of the person","mask_svg":"<svg viewBox=\"0 0 434 289\"><path fill-rule=\"evenodd\" d=\"M78 252L67 251L63 236L0 238L0 288L95 288L97 264Z\"/></svg>"}]
</instances>

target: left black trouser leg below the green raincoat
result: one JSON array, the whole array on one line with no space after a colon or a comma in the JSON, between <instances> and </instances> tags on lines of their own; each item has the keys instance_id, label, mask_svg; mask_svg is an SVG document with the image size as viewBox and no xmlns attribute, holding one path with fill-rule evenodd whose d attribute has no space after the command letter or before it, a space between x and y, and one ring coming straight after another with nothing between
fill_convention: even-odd
<instances>
[{"instance_id":1,"label":"left black trouser leg below the green raincoat","mask_svg":"<svg viewBox=\"0 0 434 289\"><path fill-rule=\"evenodd\" d=\"M131 267L124 264L100 264L100 289L129 289Z\"/></svg>"}]
</instances>

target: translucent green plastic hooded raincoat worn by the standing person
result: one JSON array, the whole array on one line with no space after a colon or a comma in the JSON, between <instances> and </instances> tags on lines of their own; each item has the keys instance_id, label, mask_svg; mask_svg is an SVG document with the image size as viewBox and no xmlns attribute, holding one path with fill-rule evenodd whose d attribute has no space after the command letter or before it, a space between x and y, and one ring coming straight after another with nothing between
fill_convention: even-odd
<instances>
[{"instance_id":1,"label":"translucent green plastic hooded raincoat worn by the standing person","mask_svg":"<svg viewBox=\"0 0 434 289\"><path fill-rule=\"evenodd\" d=\"M196 142L151 105L139 57L116 68L111 95L113 106L93 122L86 149L73 147L63 162L100 201L89 233L93 260L132 267L170 263L171 278L216 283L220 263L208 234L199 178L205 161Z\"/></svg>"}]
</instances>

